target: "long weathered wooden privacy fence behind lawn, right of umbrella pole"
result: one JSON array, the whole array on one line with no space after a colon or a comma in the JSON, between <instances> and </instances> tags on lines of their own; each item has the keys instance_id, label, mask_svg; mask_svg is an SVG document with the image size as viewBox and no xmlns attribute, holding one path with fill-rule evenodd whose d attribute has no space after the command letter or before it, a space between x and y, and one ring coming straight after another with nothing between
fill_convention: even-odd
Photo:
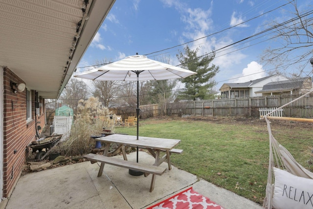
<instances>
[{"instance_id":1,"label":"long weathered wooden privacy fence behind lawn, right of umbrella pole","mask_svg":"<svg viewBox=\"0 0 313 209\"><path fill-rule=\"evenodd\" d=\"M282 94L262 97L174 102L168 105L167 113L168 115L178 115L181 110L182 114L192 116L259 116L259 108L280 107L300 95ZM282 114L287 117L313 118L312 94L284 107Z\"/></svg>"}]
</instances>

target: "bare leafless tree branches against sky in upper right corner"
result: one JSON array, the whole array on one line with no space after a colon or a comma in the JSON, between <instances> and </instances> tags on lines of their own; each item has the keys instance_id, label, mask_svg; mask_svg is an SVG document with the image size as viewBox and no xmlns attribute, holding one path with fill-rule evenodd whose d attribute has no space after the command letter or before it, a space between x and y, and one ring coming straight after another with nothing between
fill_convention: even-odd
<instances>
[{"instance_id":1,"label":"bare leafless tree branches against sky in upper right corner","mask_svg":"<svg viewBox=\"0 0 313 209\"><path fill-rule=\"evenodd\" d=\"M307 74L303 70L313 56L313 10L312 5L298 6L297 0L290 0L290 4L293 11L287 21L282 23L275 20L270 23L275 28L272 36L275 44L264 51L261 61L276 69L297 66L298 70L293 74L303 76Z\"/></svg>"}]
</instances>

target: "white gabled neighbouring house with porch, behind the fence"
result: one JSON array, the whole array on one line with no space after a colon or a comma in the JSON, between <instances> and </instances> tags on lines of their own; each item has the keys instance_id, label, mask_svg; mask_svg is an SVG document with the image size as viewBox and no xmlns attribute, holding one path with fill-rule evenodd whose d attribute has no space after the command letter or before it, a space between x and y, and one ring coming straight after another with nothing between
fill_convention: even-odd
<instances>
[{"instance_id":1,"label":"white gabled neighbouring house with porch, behind the fence","mask_svg":"<svg viewBox=\"0 0 313 209\"><path fill-rule=\"evenodd\" d=\"M264 78L251 80L245 83L224 83L220 88L221 98L236 98L248 96L262 96L262 93L256 93L263 89L263 86L275 81L289 80L287 77L275 74Z\"/></svg>"}]
</instances>

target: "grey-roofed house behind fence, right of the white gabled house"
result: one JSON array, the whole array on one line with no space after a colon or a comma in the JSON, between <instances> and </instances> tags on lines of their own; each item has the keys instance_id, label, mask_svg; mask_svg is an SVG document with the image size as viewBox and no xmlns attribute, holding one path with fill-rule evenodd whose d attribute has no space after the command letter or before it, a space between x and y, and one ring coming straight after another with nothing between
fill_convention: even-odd
<instances>
[{"instance_id":1,"label":"grey-roofed house behind fence, right of the white gabled house","mask_svg":"<svg viewBox=\"0 0 313 209\"><path fill-rule=\"evenodd\" d=\"M263 86L261 91L255 93L262 93L263 96L275 95L282 93L307 93L312 89L312 79L307 78L297 78L287 81L276 81L270 82Z\"/></svg>"}]
</instances>

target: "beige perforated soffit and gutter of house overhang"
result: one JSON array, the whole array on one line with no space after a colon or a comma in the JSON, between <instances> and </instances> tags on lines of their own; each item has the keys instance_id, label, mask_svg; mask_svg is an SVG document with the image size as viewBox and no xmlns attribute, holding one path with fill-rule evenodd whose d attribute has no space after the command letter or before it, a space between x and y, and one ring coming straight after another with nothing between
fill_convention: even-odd
<instances>
[{"instance_id":1,"label":"beige perforated soffit and gutter of house overhang","mask_svg":"<svg viewBox=\"0 0 313 209\"><path fill-rule=\"evenodd\" d=\"M58 98L114 2L0 0L0 67Z\"/></svg>"}]
</instances>

